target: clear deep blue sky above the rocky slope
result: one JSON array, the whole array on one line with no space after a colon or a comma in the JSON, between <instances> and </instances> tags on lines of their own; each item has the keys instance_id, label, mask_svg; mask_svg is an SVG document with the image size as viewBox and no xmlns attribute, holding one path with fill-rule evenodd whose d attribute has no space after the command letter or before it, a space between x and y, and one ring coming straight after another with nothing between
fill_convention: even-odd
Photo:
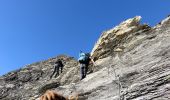
<instances>
[{"instance_id":1,"label":"clear deep blue sky above the rocky slope","mask_svg":"<svg viewBox=\"0 0 170 100\"><path fill-rule=\"evenodd\" d=\"M77 58L127 18L153 26L168 14L168 0L0 0L0 75L59 54Z\"/></svg>"}]
</instances>

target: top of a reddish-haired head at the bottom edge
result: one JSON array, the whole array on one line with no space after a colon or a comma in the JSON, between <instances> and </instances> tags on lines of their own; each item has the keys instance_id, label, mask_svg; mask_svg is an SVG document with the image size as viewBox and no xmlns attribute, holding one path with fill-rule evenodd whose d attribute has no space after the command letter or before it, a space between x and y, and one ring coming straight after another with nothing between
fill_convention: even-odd
<instances>
[{"instance_id":1,"label":"top of a reddish-haired head at the bottom edge","mask_svg":"<svg viewBox=\"0 0 170 100\"><path fill-rule=\"evenodd\" d=\"M67 99L54 91L46 91L45 94L40 97L40 100L67 100Z\"/></svg>"}]
</instances>

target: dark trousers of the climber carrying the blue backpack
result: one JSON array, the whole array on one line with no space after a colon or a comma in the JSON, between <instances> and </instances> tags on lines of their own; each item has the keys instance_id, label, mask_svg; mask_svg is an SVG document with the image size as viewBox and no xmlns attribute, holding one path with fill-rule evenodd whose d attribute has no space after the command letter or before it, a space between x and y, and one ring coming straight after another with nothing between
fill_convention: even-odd
<instances>
[{"instance_id":1,"label":"dark trousers of the climber carrying the blue backpack","mask_svg":"<svg viewBox=\"0 0 170 100\"><path fill-rule=\"evenodd\" d=\"M88 64L80 64L80 79L84 79L87 75Z\"/></svg>"}]
</instances>

